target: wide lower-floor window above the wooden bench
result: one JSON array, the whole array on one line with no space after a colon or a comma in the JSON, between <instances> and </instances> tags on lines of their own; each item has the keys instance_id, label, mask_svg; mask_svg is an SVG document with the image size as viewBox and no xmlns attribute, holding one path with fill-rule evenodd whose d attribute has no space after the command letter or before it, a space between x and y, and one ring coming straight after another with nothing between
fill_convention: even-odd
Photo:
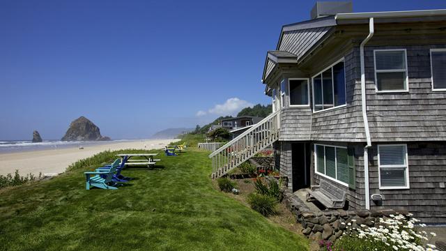
<instances>
[{"instance_id":1,"label":"wide lower-floor window above the wooden bench","mask_svg":"<svg viewBox=\"0 0 446 251\"><path fill-rule=\"evenodd\" d=\"M353 149L339 146L314 145L316 174L342 185L355 188Z\"/></svg>"}]
</instances>

